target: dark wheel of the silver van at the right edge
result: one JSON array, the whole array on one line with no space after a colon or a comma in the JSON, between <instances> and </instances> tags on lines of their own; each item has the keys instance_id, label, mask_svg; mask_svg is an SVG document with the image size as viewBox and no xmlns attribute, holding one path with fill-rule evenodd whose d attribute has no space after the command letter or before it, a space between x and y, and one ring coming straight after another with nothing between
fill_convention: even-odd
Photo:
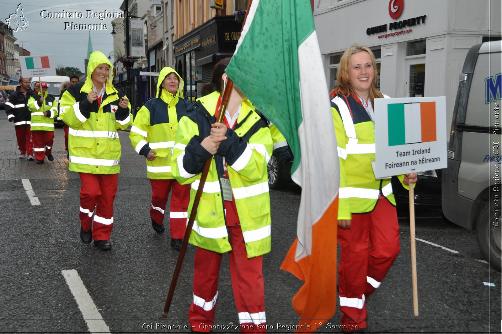
<instances>
[{"instance_id":1,"label":"dark wheel of the silver van at the right edge","mask_svg":"<svg viewBox=\"0 0 502 334\"><path fill-rule=\"evenodd\" d=\"M500 221L495 221L495 213L490 210L490 202L484 202L476 221L476 237L483 258L500 271L502 266L502 236Z\"/></svg>"}]
</instances>

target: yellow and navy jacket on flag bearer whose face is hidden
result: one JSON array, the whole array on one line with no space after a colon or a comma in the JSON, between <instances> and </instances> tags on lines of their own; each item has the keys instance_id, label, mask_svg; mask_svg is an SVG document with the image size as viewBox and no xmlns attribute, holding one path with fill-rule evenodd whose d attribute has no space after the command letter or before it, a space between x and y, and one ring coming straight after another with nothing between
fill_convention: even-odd
<instances>
[{"instance_id":1,"label":"yellow and navy jacket on flag bearer whose face is hidden","mask_svg":"<svg viewBox=\"0 0 502 334\"><path fill-rule=\"evenodd\" d=\"M191 183L191 211L204 162L211 157L200 142L210 134L220 94L211 93L182 117L176 133L171 157L171 169L181 184ZM248 258L270 252L271 218L267 163L272 154L272 136L267 122L249 101L241 104L234 130L227 129L202 192L189 242L213 252L231 250L224 217L223 193L220 177L223 157L235 199L240 228Z\"/></svg>"}]
</instances>

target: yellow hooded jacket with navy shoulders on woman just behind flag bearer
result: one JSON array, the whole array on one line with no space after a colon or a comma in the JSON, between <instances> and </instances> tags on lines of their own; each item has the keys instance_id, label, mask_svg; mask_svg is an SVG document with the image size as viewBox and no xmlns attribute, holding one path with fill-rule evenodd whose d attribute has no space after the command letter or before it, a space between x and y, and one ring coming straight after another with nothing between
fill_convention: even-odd
<instances>
[{"instance_id":1,"label":"yellow hooded jacket with navy shoulders on woman just behind flag bearer","mask_svg":"<svg viewBox=\"0 0 502 334\"><path fill-rule=\"evenodd\" d=\"M162 88L162 81L176 73L179 80L175 95ZM159 73L157 94L145 102L136 114L129 138L133 148L145 157L150 150L157 152L153 161L147 160L147 177L150 179L174 179L171 173L171 148L178 129L178 122L186 115L192 102L183 99L184 81L171 67L164 67Z\"/></svg>"}]
</instances>

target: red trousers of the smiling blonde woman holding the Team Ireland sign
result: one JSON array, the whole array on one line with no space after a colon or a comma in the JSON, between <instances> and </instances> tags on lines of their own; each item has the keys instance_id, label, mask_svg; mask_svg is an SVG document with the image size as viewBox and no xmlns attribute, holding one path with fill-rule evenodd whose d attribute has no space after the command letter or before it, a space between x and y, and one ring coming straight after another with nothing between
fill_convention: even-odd
<instances>
[{"instance_id":1,"label":"red trousers of the smiling blonde woman holding the Team Ireland sign","mask_svg":"<svg viewBox=\"0 0 502 334\"><path fill-rule=\"evenodd\" d=\"M350 229L338 228L338 291L345 331L366 328L366 303L399 254L396 208L383 196L373 211L352 214Z\"/></svg>"}]
</instances>

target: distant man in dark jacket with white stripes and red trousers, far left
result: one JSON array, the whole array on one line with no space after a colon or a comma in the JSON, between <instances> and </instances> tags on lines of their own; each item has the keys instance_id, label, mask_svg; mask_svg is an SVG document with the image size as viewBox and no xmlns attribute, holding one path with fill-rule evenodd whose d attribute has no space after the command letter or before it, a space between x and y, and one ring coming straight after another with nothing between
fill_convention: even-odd
<instances>
[{"instance_id":1,"label":"distant man in dark jacket with white stripes and red trousers, far left","mask_svg":"<svg viewBox=\"0 0 502 334\"><path fill-rule=\"evenodd\" d=\"M35 93L30 88L30 78L21 78L16 91L11 93L5 103L5 112L10 122L14 123L16 138L20 150L19 157L33 161L33 138L31 134L31 112L28 100Z\"/></svg>"}]
</instances>

